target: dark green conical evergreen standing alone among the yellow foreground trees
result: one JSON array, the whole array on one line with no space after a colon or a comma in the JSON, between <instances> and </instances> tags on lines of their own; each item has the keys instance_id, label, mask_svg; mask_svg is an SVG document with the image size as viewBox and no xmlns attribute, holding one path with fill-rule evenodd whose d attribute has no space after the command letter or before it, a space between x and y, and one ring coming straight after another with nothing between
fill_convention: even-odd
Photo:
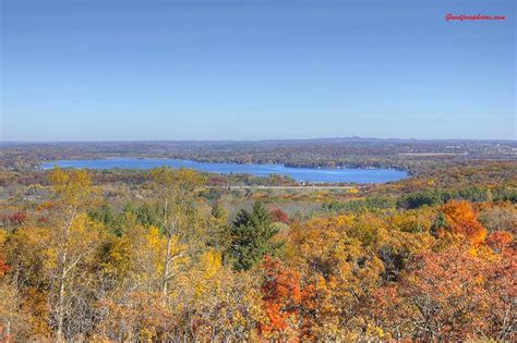
<instances>
[{"instance_id":1,"label":"dark green conical evergreen standing alone among the yellow foreground trees","mask_svg":"<svg viewBox=\"0 0 517 343\"><path fill-rule=\"evenodd\" d=\"M226 254L233 268L249 270L258 264L264 255L276 255L282 242L274 242L278 233L269 211L264 204L253 204L251 212L241 209L230 230L230 247Z\"/></svg>"}]
</instances>

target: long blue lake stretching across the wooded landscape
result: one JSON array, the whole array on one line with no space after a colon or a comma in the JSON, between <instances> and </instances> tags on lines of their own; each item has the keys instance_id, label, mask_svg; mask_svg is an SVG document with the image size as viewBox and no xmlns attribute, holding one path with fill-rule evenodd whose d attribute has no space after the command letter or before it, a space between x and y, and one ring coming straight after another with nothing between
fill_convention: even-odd
<instances>
[{"instance_id":1,"label":"long blue lake stretching across the wooded landscape","mask_svg":"<svg viewBox=\"0 0 517 343\"><path fill-rule=\"evenodd\" d=\"M383 183L398 181L408 176L405 171L393 169L326 169L326 168L291 168L282 164L232 164L232 163L203 163L179 159L94 159L94 160L59 160L43 163L43 169L61 168L85 169L153 169L156 167L192 168L199 171L221 174L253 174L268 176L270 174L289 175L299 182L312 183Z\"/></svg>"}]
</instances>

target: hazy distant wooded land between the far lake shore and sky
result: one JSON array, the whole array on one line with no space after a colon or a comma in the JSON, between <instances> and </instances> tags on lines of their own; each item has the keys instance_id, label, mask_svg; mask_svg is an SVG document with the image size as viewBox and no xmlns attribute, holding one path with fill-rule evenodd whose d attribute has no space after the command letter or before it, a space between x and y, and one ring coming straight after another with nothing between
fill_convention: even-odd
<instances>
[{"instance_id":1,"label":"hazy distant wooded land between the far lake shore and sky","mask_svg":"<svg viewBox=\"0 0 517 343\"><path fill-rule=\"evenodd\" d=\"M335 138L262 142L97 142L10 144L0 149L0 167L34 170L43 161L118 157L178 158L201 162L281 163L311 168L394 168L421 174L440 163L513 160L509 140L414 140ZM423 154L420 155L419 154Z\"/></svg>"}]
</instances>

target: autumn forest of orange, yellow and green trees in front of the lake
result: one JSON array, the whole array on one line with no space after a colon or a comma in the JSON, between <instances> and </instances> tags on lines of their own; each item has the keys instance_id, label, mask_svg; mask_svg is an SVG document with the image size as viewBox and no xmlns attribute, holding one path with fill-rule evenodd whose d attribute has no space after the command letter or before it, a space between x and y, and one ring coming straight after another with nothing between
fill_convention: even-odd
<instances>
[{"instance_id":1,"label":"autumn forest of orange, yellow and green trees in front of the lake","mask_svg":"<svg viewBox=\"0 0 517 343\"><path fill-rule=\"evenodd\" d=\"M4 168L0 340L517 340L516 162L418 164L291 193L188 169Z\"/></svg>"}]
</instances>

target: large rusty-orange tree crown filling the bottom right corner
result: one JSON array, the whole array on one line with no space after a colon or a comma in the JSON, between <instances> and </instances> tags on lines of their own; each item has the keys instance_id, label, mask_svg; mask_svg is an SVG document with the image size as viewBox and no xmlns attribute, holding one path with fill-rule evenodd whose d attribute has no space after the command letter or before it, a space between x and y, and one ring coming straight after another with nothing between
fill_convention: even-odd
<instances>
[{"instance_id":1,"label":"large rusty-orange tree crown filling the bottom right corner","mask_svg":"<svg viewBox=\"0 0 517 343\"><path fill-rule=\"evenodd\" d=\"M515 340L516 272L509 255L479 258L468 246L423 253L399 282L375 292L371 311L394 339Z\"/></svg>"}]
</instances>

